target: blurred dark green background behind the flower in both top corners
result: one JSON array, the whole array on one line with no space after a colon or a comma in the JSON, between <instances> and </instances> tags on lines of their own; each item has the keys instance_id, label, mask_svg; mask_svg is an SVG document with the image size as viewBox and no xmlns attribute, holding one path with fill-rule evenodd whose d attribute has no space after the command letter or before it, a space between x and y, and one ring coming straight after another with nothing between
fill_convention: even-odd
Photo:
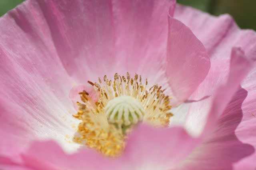
<instances>
[{"instance_id":1,"label":"blurred dark green background behind the flower in both top corners","mask_svg":"<svg viewBox=\"0 0 256 170\"><path fill-rule=\"evenodd\" d=\"M24 0L0 0L0 16ZM213 15L231 14L241 28L256 30L256 0L177 0Z\"/></svg>"}]
</instances>

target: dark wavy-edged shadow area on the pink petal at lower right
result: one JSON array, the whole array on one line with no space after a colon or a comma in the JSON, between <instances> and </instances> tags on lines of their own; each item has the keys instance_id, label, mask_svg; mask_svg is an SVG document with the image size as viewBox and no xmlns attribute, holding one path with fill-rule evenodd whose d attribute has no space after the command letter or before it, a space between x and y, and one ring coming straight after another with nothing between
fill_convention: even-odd
<instances>
[{"instance_id":1,"label":"dark wavy-edged shadow area on the pink petal at lower right","mask_svg":"<svg viewBox=\"0 0 256 170\"><path fill-rule=\"evenodd\" d=\"M220 116L218 127L205 142L190 154L184 162L188 169L232 170L235 162L255 152L250 144L244 144L236 137L235 130L242 121L242 103L247 91L239 88L224 113ZM185 168L185 169L186 169Z\"/></svg>"}]
</instances>

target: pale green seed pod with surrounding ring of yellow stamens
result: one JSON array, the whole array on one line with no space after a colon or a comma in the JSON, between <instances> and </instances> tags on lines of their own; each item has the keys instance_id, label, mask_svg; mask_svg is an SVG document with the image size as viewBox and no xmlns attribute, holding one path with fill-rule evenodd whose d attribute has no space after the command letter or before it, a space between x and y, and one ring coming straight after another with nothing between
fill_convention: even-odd
<instances>
[{"instance_id":1,"label":"pale green seed pod with surrounding ring of yellow stamens","mask_svg":"<svg viewBox=\"0 0 256 170\"><path fill-rule=\"evenodd\" d=\"M81 120L74 142L85 144L107 156L118 156L125 146L127 134L138 122L156 127L168 126L170 98L164 95L165 90L155 84L147 88L148 80L142 83L141 76L135 74L126 77L117 73L114 80L91 84L98 94L98 101L93 101L85 90L80 92L83 103L77 102L79 109L74 118Z\"/></svg>"}]
</instances>

